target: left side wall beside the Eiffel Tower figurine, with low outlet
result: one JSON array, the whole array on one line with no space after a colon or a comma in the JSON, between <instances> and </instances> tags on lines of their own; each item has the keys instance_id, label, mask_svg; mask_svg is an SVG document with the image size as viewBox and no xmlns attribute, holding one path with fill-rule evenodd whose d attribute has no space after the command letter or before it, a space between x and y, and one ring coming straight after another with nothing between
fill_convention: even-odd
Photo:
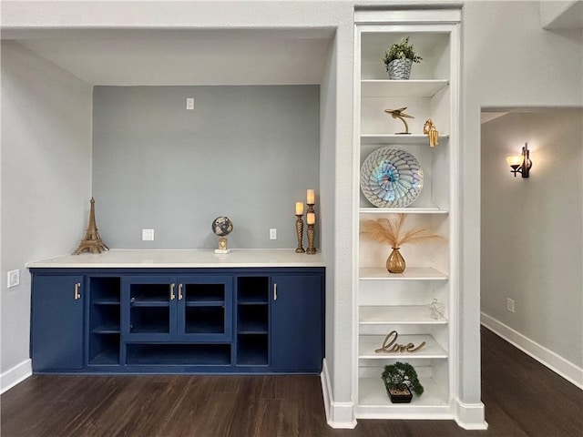
<instances>
[{"instance_id":1,"label":"left side wall beside the Eiffel Tower figurine, with low outlet","mask_svg":"<svg viewBox=\"0 0 583 437\"><path fill-rule=\"evenodd\" d=\"M25 264L66 254L87 228L91 86L23 46L2 42L2 385L29 359ZM20 285L6 289L6 272Z\"/></svg>"}]
</instances>

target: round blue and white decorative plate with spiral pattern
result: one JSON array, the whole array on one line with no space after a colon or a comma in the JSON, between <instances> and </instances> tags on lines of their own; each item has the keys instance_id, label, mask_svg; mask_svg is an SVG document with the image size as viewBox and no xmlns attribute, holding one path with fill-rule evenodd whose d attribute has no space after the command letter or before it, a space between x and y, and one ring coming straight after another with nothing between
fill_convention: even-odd
<instances>
[{"instance_id":1,"label":"round blue and white decorative plate with spiral pattern","mask_svg":"<svg viewBox=\"0 0 583 437\"><path fill-rule=\"evenodd\" d=\"M423 188L419 161L399 147L382 147L364 159L361 189L364 197L378 208L404 208Z\"/></svg>"}]
</instances>

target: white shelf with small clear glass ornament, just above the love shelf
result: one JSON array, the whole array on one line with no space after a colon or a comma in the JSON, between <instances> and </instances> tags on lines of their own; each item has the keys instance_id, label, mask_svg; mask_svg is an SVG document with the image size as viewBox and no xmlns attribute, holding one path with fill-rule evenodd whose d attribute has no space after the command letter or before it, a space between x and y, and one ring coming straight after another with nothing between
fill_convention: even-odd
<instances>
[{"instance_id":1,"label":"white shelf with small clear glass ornament, just above the love shelf","mask_svg":"<svg viewBox=\"0 0 583 437\"><path fill-rule=\"evenodd\" d=\"M358 322L361 325L446 325L447 319L432 319L428 305L400 305L360 307ZM399 340L401 337L399 337ZM400 341L398 341L400 342Z\"/></svg>"}]
</instances>

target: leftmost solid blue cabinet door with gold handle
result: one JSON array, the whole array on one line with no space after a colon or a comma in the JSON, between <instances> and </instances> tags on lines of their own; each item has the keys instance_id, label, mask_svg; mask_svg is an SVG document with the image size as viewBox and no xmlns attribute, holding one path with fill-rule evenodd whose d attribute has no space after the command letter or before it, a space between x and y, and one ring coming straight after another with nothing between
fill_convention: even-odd
<instances>
[{"instance_id":1,"label":"leftmost solid blue cabinet door with gold handle","mask_svg":"<svg viewBox=\"0 0 583 437\"><path fill-rule=\"evenodd\" d=\"M33 371L82 369L84 288L83 276L33 277Z\"/></svg>"}]
</instances>

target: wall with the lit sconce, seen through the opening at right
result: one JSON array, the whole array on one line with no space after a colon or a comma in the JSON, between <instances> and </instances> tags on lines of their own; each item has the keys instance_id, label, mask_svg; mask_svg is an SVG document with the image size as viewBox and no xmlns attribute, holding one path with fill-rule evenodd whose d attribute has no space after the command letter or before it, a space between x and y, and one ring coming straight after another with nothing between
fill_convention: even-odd
<instances>
[{"instance_id":1,"label":"wall with the lit sconce, seen through the opening at right","mask_svg":"<svg viewBox=\"0 0 583 437\"><path fill-rule=\"evenodd\" d=\"M506 156L528 143L529 178ZM583 369L583 109L482 126L482 311ZM515 312L506 310L515 300ZM494 320L490 320L494 319ZM493 323L492 323L493 322ZM513 339L511 339L513 340ZM579 377L580 379L580 377Z\"/></svg>"}]
</instances>

